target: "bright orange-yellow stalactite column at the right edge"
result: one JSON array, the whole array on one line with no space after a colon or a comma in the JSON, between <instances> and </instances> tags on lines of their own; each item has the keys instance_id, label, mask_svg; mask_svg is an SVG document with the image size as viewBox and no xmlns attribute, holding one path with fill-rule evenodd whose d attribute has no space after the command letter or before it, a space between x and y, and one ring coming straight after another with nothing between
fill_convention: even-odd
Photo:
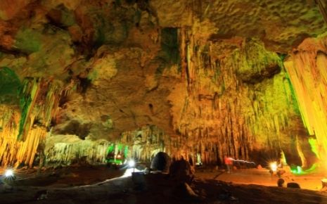
<instances>
[{"instance_id":1,"label":"bright orange-yellow stalactite column at the right edge","mask_svg":"<svg viewBox=\"0 0 327 204\"><path fill-rule=\"evenodd\" d=\"M309 134L319 144L319 158L327 159L326 39L304 41L285 62Z\"/></svg>"}]
</instances>

